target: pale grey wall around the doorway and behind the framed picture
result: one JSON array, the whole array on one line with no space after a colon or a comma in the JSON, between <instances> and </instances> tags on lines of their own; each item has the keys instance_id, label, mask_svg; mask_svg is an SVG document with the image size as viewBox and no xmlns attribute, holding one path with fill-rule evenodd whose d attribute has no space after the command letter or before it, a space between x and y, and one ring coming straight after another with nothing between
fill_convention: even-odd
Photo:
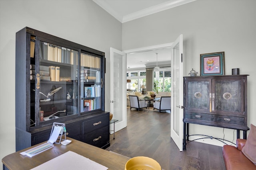
<instances>
[{"instance_id":1,"label":"pale grey wall around the doorway and behind the framed picture","mask_svg":"<svg viewBox=\"0 0 256 170\"><path fill-rule=\"evenodd\" d=\"M200 54L225 52L226 75L232 68L248 76L248 126L256 125L256 1L197 0L123 23L123 50L171 43L183 34L184 76L200 72ZM223 128L190 125L190 134L223 138ZM225 139L236 140L236 131L224 129ZM240 135L242 137L242 133ZM192 137L190 138L192 139ZM223 145L216 140L201 142Z\"/></svg>"}]
</instances>

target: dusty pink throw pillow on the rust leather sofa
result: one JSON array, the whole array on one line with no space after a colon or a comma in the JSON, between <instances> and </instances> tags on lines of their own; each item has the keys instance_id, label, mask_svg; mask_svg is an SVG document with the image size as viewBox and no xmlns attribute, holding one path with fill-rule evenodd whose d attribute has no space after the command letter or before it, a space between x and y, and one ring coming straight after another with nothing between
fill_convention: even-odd
<instances>
[{"instance_id":1,"label":"dusty pink throw pillow on the rust leather sofa","mask_svg":"<svg viewBox=\"0 0 256 170\"><path fill-rule=\"evenodd\" d=\"M252 124L242 152L256 165L256 126Z\"/></svg>"}]
</instances>

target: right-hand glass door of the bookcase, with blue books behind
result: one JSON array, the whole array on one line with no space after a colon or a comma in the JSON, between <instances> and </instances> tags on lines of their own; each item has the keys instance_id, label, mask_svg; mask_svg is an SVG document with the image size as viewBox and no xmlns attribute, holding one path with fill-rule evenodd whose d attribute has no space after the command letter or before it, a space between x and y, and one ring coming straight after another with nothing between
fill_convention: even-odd
<instances>
[{"instance_id":1,"label":"right-hand glass door of the bookcase, with blue books behind","mask_svg":"<svg viewBox=\"0 0 256 170\"><path fill-rule=\"evenodd\" d=\"M102 109L102 58L81 52L81 114Z\"/></svg>"}]
</instances>

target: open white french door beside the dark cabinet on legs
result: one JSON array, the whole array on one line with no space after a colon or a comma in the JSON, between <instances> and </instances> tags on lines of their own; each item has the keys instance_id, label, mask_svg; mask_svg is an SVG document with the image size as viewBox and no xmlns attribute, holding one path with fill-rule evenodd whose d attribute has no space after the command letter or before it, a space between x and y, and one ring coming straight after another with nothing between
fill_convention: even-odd
<instances>
[{"instance_id":1,"label":"open white french door beside the dark cabinet on legs","mask_svg":"<svg viewBox=\"0 0 256 170\"><path fill-rule=\"evenodd\" d=\"M182 151L183 137L183 37L182 34L172 44L172 103L171 103L171 138Z\"/></svg>"}]
</instances>

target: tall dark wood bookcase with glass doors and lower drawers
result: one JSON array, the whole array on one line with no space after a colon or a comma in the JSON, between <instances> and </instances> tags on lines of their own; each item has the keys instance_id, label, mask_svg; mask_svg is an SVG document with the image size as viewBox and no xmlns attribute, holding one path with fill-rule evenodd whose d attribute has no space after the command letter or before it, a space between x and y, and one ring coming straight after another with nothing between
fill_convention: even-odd
<instances>
[{"instance_id":1,"label":"tall dark wood bookcase with glass doors and lower drawers","mask_svg":"<svg viewBox=\"0 0 256 170\"><path fill-rule=\"evenodd\" d=\"M104 111L105 53L25 27L16 33L16 150L46 141L53 122L87 143L87 132L108 134ZM101 121L98 129L89 124ZM87 124L88 123L88 124ZM86 134L84 134L86 131ZM98 142L99 143L99 142Z\"/></svg>"}]
</instances>

